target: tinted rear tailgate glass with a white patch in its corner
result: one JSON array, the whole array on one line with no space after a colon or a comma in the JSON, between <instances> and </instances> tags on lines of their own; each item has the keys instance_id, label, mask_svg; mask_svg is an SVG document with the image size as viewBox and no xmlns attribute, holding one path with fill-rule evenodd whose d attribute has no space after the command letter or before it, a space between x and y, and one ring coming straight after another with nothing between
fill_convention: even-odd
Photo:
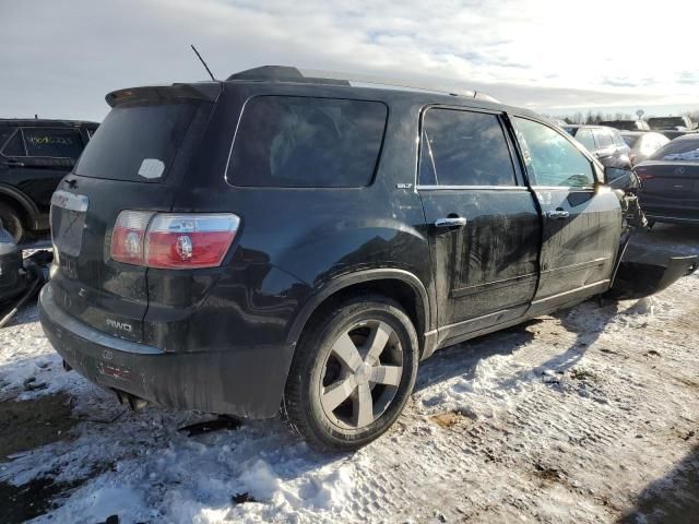
<instances>
[{"instance_id":1,"label":"tinted rear tailgate glass with a white patch in its corner","mask_svg":"<svg viewBox=\"0 0 699 524\"><path fill-rule=\"evenodd\" d=\"M85 177L158 182L167 176L197 104L117 106L75 166Z\"/></svg>"}]
</instances>

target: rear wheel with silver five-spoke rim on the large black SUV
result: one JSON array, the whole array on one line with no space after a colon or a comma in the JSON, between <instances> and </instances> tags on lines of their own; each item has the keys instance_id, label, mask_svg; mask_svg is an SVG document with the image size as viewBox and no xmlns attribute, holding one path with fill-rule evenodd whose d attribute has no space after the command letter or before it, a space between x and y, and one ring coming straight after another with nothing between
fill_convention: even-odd
<instances>
[{"instance_id":1,"label":"rear wheel with silver five-spoke rim on the large black SUV","mask_svg":"<svg viewBox=\"0 0 699 524\"><path fill-rule=\"evenodd\" d=\"M417 334L401 307L380 296L345 300L316 318L294 355L283 413L311 446L356 450L383 434L410 398Z\"/></svg>"}]
</instances>

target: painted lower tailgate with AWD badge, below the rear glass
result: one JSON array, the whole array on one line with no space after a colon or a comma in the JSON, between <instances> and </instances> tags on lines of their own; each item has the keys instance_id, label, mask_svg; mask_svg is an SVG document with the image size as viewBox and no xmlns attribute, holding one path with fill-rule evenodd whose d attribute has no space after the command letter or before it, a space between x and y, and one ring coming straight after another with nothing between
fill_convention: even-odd
<instances>
[{"instance_id":1,"label":"painted lower tailgate with AWD badge, below the rear glass","mask_svg":"<svg viewBox=\"0 0 699 524\"><path fill-rule=\"evenodd\" d=\"M141 342L147 309L146 269L110 259L111 230L123 209L168 211L174 189L69 176L51 204L56 302L106 333Z\"/></svg>"}]
</instances>

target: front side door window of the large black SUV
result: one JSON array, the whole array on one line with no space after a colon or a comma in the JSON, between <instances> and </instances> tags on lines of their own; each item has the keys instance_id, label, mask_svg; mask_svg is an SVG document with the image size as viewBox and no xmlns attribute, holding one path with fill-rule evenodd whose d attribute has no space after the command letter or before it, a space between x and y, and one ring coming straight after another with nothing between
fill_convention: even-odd
<instances>
[{"instance_id":1,"label":"front side door window of the large black SUV","mask_svg":"<svg viewBox=\"0 0 699 524\"><path fill-rule=\"evenodd\" d=\"M514 121L533 186L594 184L592 164L562 134L532 120L514 118Z\"/></svg>"}]
</instances>

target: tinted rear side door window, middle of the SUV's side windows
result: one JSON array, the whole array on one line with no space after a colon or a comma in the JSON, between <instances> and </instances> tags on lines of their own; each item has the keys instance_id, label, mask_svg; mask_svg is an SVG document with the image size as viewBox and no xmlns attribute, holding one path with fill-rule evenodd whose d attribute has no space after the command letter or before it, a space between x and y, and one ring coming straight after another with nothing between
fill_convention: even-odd
<instances>
[{"instance_id":1,"label":"tinted rear side door window, middle of the SUV's side windows","mask_svg":"<svg viewBox=\"0 0 699 524\"><path fill-rule=\"evenodd\" d=\"M428 109L419 165L423 186L514 186L512 158L496 115Z\"/></svg>"}]
</instances>

